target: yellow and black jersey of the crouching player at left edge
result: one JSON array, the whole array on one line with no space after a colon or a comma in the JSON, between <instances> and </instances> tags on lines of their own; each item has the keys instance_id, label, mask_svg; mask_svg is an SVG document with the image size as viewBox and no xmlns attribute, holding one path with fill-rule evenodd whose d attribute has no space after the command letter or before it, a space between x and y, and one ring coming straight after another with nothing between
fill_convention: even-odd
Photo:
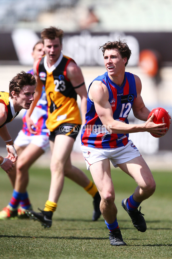
<instances>
[{"instance_id":1,"label":"yellow and black jersey of the crouching player at left edge","mask_svg":"<svg viewBox=\"0 0 172 259\"><path fill-rule=\"evenodd\" d=\"M5 124L7 124L10 121L12 121L19 114L19 112L17 112L17 113L15 112L13 101L12 101L11 97L9 97L9 93L7 93L7 92L0 92L0 102L5 105L5 109L7 111L7 119L0 126L0 128L1 128Z\"/></svg>"}]
</instances>

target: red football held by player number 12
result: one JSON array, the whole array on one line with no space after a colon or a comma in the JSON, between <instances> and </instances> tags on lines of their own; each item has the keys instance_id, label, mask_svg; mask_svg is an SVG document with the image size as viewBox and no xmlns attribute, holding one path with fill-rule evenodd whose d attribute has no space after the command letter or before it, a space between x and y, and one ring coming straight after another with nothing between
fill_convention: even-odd
<instances>
[{"instance_id":1,"label":"red football held by player number 12","mask_svg":"<svg viewBox=\"0 0 172 259\"><path fill-rule=\"evenodd\" d=\"M169 115L167 113L167 111L164 109L164 108L161 108L161 107L158 107L158 108L155 108L153 109L150 113L149 113L149 116L148 116L148 119L150 118L150 116L154 113L154 118L153 118L153 122L156 123L156 124L160 124L160 123L166 123L166 126L168 129L167 130L164 130L164 135L167 133L167 131L169 130L169 127L170 127L170 119L169 119ZM160 138L164 135L159 135L158 136L155 136L154 134L150 133L153 137L155 138Z\"/></svg>"}]
</instances>

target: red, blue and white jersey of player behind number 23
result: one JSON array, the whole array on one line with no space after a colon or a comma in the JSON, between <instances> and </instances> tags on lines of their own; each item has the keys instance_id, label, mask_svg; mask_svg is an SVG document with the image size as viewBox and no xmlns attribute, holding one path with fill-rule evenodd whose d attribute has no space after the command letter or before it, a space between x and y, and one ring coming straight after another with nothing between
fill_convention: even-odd
<instances>
[{"instance_id":1,"label":"red, blue and white jersey of player behind number 23","mask_svg":"<svg viewBox=\"0 0 172 259\"><path fill-rule=\"evenodd\" d=\"M30 74L34 74L33 69L31 69L30 71L28 71L27 73ZM27 136L35 136L34 134L30 133L30 131L28 130L27 124L26 124L26 112L24 112L23 115L23 127L22 127L22 131L24 132L24 134L26 134ZM42 87L42 94L41 97L39 99L39 101L37 102L32 115L30 116L32 121L34 122L34 124L37 125L38 129L36 129L35 127L33 127L33 129L37 132L37 135L49 135L49 130L46 127L46 119L48 117L48 105L47 105L47 99L46 99L46 93L45 93L45 86Z\"/></svg>"}]
</instances>

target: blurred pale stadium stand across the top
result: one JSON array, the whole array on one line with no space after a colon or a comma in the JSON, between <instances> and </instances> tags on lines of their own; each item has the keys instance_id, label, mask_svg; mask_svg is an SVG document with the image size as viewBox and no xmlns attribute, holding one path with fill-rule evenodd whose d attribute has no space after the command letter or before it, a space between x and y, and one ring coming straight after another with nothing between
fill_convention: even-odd
<instances>
[{"instance_id":1,"label":"blurred pale stadium stand across the top","mask_svg":"<svg viewBox=\"0 0 172 259\"><path fill-rule=\"evenodd\" d=\"M0 29L47 24L76 31L90 7L100 20L94 31L172 30L171 0L0 0Z\"/></svg>"}]
</instances>

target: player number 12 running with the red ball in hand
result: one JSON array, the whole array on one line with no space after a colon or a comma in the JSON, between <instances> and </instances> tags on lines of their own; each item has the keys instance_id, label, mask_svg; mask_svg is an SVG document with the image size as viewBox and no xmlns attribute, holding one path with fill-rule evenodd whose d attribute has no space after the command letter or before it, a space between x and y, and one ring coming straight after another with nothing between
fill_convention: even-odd
<instances>
[{"instance_id":1,"label":"player number 12 running with the red ball in hand","mask_svg":"<svg viewBox=\"0 0 172 259\"><path fill-rule=\"evenodd\" d=\"M81 133L82 151L101 196L100 210L110 230L111 245L126 245L117 222L115 192L111 178L110 161L131 176L138 186L134 193L122 200L122 207L132 219L138 231L146 231L143 214L138 210L140 203L155 191L155 180L148 165L131 140L128 133L161 132L166 124L147 120L150 111L141 97L140 78L125 72L131 55L128 45L119 41L101 46L107 72L98 76L89 86L86 123ZM146 121L139 125L128 124L128 114L133 110L137 119ZM91 130L94 127L94 130ZM167 128L165 128L167 129Z\"/></svg>"}]
</instances>

